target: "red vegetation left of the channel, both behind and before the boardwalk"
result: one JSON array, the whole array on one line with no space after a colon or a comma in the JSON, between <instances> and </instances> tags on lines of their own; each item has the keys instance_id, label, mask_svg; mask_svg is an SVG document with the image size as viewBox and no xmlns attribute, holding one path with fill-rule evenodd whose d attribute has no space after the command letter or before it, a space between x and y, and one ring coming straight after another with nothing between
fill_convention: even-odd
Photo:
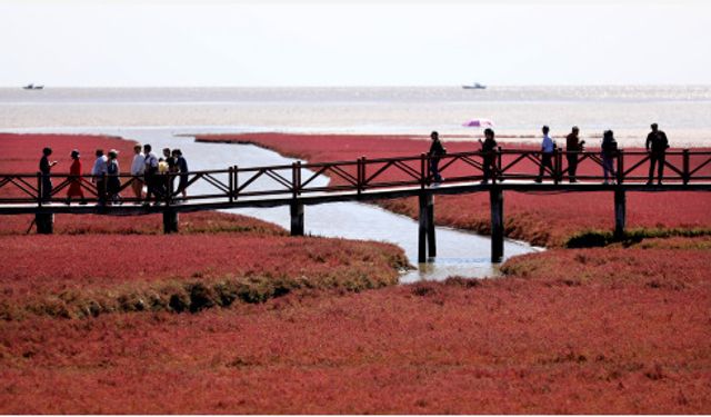
<instances>
[{"instance_id":1,"label":"red vegetation left of the channel, both behind and before the boardwalk","mask_svg":"<svg viewBox=\"0 0 711 417\"><path fill-rule=\"evenodd\" d=\"M23 152L44 146L67 155L74 147L119 148L131 152L127 165L132 155L132 142L100 137L6 135L0 145L2 167L19 171L31 171L38 159ZM224 214L181 215L181 232L173 236L161 235L159 215L58 215L54 236L23 236L31 219L7 216L0 225L4 318L181 310L192 308L196 288L219 305L300 288L360 290L395 284L398 268L407 265L391 245L290 238L277 226ZM173 296L186 299L174 305Z\"/></svg>"}]
</instances>

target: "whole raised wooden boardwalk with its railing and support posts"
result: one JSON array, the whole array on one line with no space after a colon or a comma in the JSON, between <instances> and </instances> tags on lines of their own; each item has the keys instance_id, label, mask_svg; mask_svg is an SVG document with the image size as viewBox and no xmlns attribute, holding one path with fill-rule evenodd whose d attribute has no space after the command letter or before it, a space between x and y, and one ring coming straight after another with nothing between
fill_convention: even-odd
<instances>
[{"instance_id":1,"label":"whole raised wooden boardwalk with its railing and support posts","mask_svg":"<svg viewBox=\"0 0 711 417\"><path fill-rule=\"evenodd\" d=\"M591 166L602 170L599 152L574 152L579 172ZM482 183L484 158L492 160L492 181ZM490 155L464 152L443 156L440 172L447 177L442 183L432 183L430 158L415 157L367 159L268 167L229 167L221 170L193 171L187 175L188 198L176 192L179 173L156 176L160 185L159 205L137 205L124 197L122 205L99 205L99 191L90 176L70 177L51 175L51 190L44 188L47 178L40 173L0 173L0 215L36 216L37 229L51 234L54 214L94 214L138 216L162 214L166 232L178 230L180 212L217 210L240 207L289 206L291 234L303 235L304 206L337 201L372 201L404 197L418 197L419 261L437 256L434 236L434 196L488 192L491 206L491 259L503 257L503 202L504 191L517 192L591 192L609 191L614 195L614 230L621 235L625 224L625 193L629 191L711 191L711 152L667 152L667 175L662 185L648 183L647 152L620 151L615 158L614 182L602 183L602 175L579 175L578 182L567 181L569 169L563 160L568 155L560 150L552 158L552 169L545 168L544 181L533 180L539 175L541 153L537 151L505 151ZM625 168L625 162L628 166ZM119 176L122 195L130 192L136 178ZM319 186L328 177L327 186ZM78 182L88 197L88 205L63 205L63 196L70 183ZM193 192L201 185L208 191ZM48 192L49 191L49 192ZM42 197L44 196L44 197Z\"/></svg>"}]
</instances>

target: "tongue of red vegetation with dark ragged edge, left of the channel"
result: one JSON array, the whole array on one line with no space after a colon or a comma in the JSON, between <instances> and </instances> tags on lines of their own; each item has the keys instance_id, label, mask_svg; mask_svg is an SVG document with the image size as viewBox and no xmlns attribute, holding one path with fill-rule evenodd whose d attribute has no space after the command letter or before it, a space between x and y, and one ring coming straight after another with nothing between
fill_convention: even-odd
<instances>
[{"instance_id":1,"label":"tongue of red vegetation with dark ragged edge, left of the channel","mask_svg":"<svg viewBox=\"0 0 711 417\"><path fill-rule=\"evenodd\" d=\"M263 234L8 236L0 241L6 266L0 317L6 319L27 311L61 317L181 311L236 299L259 302L301 288L361 290L397 284L398 268L407 266L391 245ZM200 296L206 299L192 299L193 290L206 292Z\"/></svg>"}]
</instances>

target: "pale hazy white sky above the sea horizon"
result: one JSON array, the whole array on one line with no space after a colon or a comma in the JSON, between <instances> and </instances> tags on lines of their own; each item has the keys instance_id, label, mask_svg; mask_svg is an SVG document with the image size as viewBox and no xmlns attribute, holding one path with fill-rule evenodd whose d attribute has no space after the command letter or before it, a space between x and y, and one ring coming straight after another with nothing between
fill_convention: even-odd
<instances>
[{"instance_id":1,"label":"pale hazy white sky above the sea horizon","mask_svg":"<svg viewBox=\"0 0 711 417\"><path fill-rule=\"evenodd\" d=\"M0 86L711 83L711 1L0 0Z\"/></svg>"}]
</instances>

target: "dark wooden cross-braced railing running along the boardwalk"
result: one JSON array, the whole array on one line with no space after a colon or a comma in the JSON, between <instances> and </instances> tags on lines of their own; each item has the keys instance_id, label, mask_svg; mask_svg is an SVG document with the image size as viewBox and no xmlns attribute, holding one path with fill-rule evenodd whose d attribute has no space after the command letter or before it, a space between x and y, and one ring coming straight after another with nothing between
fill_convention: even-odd
<instances>
[{"instance_id":1,"label":"dark wooden cross-braced railing running along the boardwalk","mask_svg":"<svg viewBox=\"0 0 711 417\"><path fill-rule=\"evenodd\" d=\"M602 181L602 159L600 151L571 152L578 160L577 179L583 182ZM497 149L493 158L492 179L495 181L529 181L539 176L541 151ZM564 181L570 167L568 153L555 150L551 161L552 169L545 168L544 179L553 183ZM449 153L440 157L439 171L445 177L444 183L468 183L483 179L484 155L482 152ZM647 182L650 155L644 151L623 151L617 153L614 179L618 183ZM657 172L654 172L655 175ZM432 185L430 157L425 153L398 158L368 159L361 157L354 161L334 161L291 165L249 167L237 166L220 170L192 171L187 176L188 197L183 198L176 187L181 173L157 175L156 181L163 185L158 192L158 201L166 205L220 200L233 202L244 198L298 198L316 192L356 192L385 188L425 188ZM118 176L123 202L138 202L130 190L131 183L139 178L130 175ZM67 188L77 182L84 191L88 202L99 201L99 191L90 175L80 177L67 173L49 176L53 187L49 198L43 196L41 173L0 173L0 203L37 203L63 201ZM318 179L327 180L327 186L317 185ZM266 183L264 180L269 180ZM688 185L711 180L711 151L689 149L671 150L665 153L664 177L667 183ZM194 186L201 183L209 191L192 193ZM534 187L532 185L532 187ZM681 188L681 187L680 187Z\"/></svg>"}]
</instances>

